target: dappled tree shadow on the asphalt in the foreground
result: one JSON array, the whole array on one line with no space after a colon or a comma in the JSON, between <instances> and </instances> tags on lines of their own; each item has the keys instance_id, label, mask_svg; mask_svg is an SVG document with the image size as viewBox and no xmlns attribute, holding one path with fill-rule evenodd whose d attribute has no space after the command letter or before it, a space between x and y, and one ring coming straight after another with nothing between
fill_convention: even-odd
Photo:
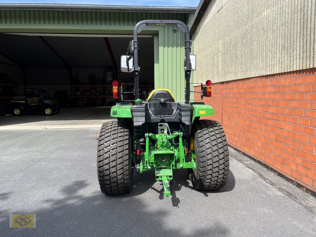
<instances>
[{"instance_id":1,"label":"dappled tree shadow on the asphalt in the foreground","mask_svg":"<svg viewBox=\"0 0 316 237\"><path fill-rule=\"evenodd\" d=\"M151 179L152 174L150 175ZM146 177L147 178L147 177ZM140 179L140 178L139 178ZM136 183L137 180L136 180ZM146 183L146 182L145 182ZM146 184L147 185L147 184ZM146 186L149 187L149 183ZM58 189L58 186L54 188ZM109 196L97 190L97 185L87 180L77 180L59 187L51 197L46 190L38 190L39 199L36 205L32 200L16 200L26 202L18 207L5 206L0 213L8 218L0 219L1 236L228 236L230 231L221 222L212 222L205 227L194 228L180 224L185 216L185 210L178 213L170 210L168 205L154 205L155 200L144 197L129 197L125 195ZM141 193L141 188L133 189L134 195ZM55 196L57 194L57 196ZM14 206L14 205L13 205ZM8 228L9 213L36 214L36 228L32 233L24 228ZM179 217L182 216L182 217ZM196 216L194 216L196 215ZM189 216L192 224L197 225L200 214ZM4 215L3 215L4 216ZM2 216L2 217L3 217ZM206 217L204 217L206 218ZM177 224L170 225L172 220L178 219ZM159 224L159 227L151 228ZM168 224L167 224L168 223ZM150 228L148 228L150 227Z\"/></svg>"}]
</instances>

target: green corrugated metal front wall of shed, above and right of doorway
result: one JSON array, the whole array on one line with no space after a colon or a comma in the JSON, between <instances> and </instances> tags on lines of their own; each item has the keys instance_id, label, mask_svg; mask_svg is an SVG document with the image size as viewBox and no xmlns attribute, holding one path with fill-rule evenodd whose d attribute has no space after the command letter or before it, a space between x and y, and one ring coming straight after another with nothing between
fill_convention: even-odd
<instances>
[{"instance_id":1,"label":"green corrugated metal front wall of shed, above and right of doorway","mask_svg":"<svg viewBox=\"0 0 316 237\"><path fill-rule=\"evenodd\" d=\"M132 33L142 20L172 19L188 24L192 16L188 13L0 10L0 32ZM179 29L174 33L173 26L147 26L142 33L154 34L155 88L168 88L176 100L184 100L184 33Z\"/></svg>"}]
</instances>

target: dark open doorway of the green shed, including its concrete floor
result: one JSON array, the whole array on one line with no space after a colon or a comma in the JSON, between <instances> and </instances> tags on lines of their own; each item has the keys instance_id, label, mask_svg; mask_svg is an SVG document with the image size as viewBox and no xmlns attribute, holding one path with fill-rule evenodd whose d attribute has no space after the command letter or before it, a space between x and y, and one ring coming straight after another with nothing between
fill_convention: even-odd
<instances>
[{"instance_id":1,"label":"dark open doorway of the green shed, including its concrete floor","mask_svg":"<svg viewBox=\"0 0 316 237\"><path fill-rule=\"evenodd\" d=\"M8 103L23 97L24 88L44 89L62 106L53 116L38 112L18 118L1 116L3 127L100 127L111 119L110 107L117 102L112 98L112 81L133 80L119 65L130 40L132 35L119 34L1 33L0 114L12 113ZM143 35L139 44L140 93L148 93L154 89L154 37Z\"/></svg>"}]
</instances>

